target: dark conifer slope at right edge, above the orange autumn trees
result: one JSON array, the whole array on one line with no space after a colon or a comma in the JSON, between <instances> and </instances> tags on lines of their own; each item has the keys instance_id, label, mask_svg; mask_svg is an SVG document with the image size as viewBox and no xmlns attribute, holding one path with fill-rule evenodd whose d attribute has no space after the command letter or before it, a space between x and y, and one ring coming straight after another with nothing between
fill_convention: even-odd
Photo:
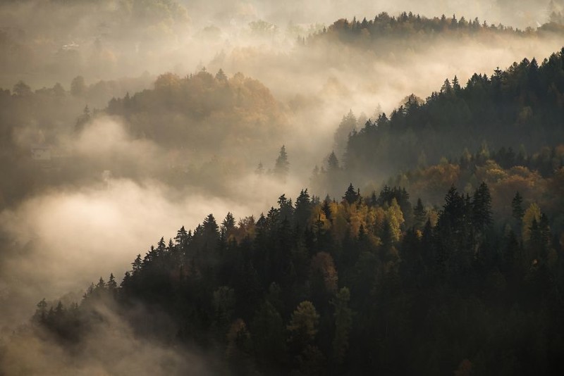
<instances>
[{"instance_id":1,"label":"dark conifer slope at right edge, above the orange autumn trees","mask_svg":"<svg viewBox=\"0 0 564 376\"><path fill-rule=\"evenodd\" d=\"M426 101L405 104L353 130L344 164L362 175L394 173L418 163L458 158L479 149L539 150L564 139L564 48L545 58L513 63L491 77L474 74L465 87L445 80ZM345 119L343 119L345 121Z\"/></svg>"}]
</instances>

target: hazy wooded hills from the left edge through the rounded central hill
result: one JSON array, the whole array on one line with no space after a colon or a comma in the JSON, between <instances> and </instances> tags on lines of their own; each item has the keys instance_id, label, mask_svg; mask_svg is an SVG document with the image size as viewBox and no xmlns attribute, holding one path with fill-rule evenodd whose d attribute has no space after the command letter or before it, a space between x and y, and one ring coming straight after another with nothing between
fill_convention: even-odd
<instances>
[{"instance_id":1,"label":"hazy wooded hills from the left edge through the rounded central hill","mask_svg":"<svg viewBox=\"0 0 564 376\"><path fill-rule=\"evenodd\" d=\"M222 180L248 173L257 160L274 161L287 115L261 82L242 73L228 78L221 69L211 75L202 68L184 78L166 73L154 82L142 75L87 84L78 76L68 90L60 83L33 90L20 81L12 90L0 89L0 161L14 176L0 182L0 207L48 187L99 178L104 170L176 187L213 180L218 192L225 191ZM85 152L85 138L112 122L124 124L111 140L118 150L87 146ZM138 153L149 161L140 163L128 144L144 141L149 144ZM250 147L252 155L234 155ZM48 156L38 159L35 150Z\"/></svg>"}]
</instances>

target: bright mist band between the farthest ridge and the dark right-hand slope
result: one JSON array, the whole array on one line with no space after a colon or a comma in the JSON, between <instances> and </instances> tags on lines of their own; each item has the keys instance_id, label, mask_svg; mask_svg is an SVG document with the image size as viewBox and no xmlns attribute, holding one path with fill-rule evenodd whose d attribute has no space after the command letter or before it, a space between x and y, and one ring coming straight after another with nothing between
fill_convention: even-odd
<instances>
[{"instance_id":1,"label":"bright mist band between the farthest ridge and the dark right-hand slope","mask_svg":"<svg viewBox=\"0 0 564 376\"><path fill-rule=\"evenodd\" d=\"M321 164L348 111L374 120L377 110L389 114L409 94L427 98L446 78L456 75L465 83L474 73L491 75L497 67L508 68L524 57L549 56L560 44L557 36L509 36L490 41L441 39L417 49L396 46L393 40L376 50L340 43L300 46L291 53L247 47L233 49L208 66L228 73L253 72L290 107L286 144L299 151L300 159Z\"/></svg>"}]
</instances>

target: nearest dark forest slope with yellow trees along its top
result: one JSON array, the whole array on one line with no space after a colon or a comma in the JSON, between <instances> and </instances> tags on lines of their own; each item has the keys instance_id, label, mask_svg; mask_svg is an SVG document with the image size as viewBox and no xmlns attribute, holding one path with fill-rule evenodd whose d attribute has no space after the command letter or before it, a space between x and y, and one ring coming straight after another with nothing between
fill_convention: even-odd
<instances>
[{"instance_id":1,"label":"nearest dark forest slope with yellow trees along its top","mask_svg":"<svg viewBox=\"0 0 564 376\"><path fill-rule=\"evenodd\" d=\"M140 336L173 322L166 343L220 353L235 375L562 375L564 239L537 203L500 199L512 210L496 219L485 183L440 208L350 184L338 200L282 195L257 219L210 214L121 283L39 302L33 327L80 353L111 306Z\"/></svg>"}]
</instances>

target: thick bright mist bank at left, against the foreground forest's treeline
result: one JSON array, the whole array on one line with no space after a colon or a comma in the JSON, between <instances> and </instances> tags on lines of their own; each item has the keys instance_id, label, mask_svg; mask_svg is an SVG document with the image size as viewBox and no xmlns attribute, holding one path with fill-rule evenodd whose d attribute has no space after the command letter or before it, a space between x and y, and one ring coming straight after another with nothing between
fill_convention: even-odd
<instances>
[{"instance_id":1,"label":"thick bright mist bank at left, against the foreground forest's treeline","mask_svg":"<svg viewBox=\"0 0 564 376\"><path fill-rule=\"evenodd\" d=\"M37 301L85 289L101 275L121 279L137 253L144 255L160 237L173 238L181 226L193 229L209 213L219 221L228 212L257 218L281 194L295 196L305 187L254 170L227 182L210 176L171 187L152 178L166 165L159 159L164 150L130 139L115 118L95 120L73 147L74 163L85 170L82 180L0 213L4 320L26 320ZM142 167L128 171L135 164ZM108 166L114 170L104 170ZM122 175L112 177L116 171ZM222 187L214 189L214 180Z\"/></svg>"}]
</instances>

